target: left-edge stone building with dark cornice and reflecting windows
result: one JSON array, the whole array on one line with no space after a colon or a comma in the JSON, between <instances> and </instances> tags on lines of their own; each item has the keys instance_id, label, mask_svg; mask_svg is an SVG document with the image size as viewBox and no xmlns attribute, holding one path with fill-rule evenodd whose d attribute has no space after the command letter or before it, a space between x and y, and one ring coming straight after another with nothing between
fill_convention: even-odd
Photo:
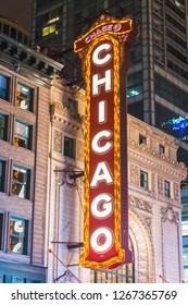
<instances>
[{"instance_id":1,"label":"left-edge stone building with dark cornice and reflecting windows","mask_svg":"<svg viewBox=\"0 0 188 305\"><path fill-rule=\"evenodd\" d=\"M46 282L49 106L62 68L0 34L0 282Z\"/></svg>"}]
</instances>

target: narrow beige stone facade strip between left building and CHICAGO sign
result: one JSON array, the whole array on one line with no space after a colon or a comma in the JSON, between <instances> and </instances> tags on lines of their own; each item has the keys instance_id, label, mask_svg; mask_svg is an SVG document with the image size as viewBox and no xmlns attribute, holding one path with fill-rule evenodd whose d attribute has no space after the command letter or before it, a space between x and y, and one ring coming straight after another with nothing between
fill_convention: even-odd
<instances>
[{"instance_id":1,"label":"narrow beige stone facade strip between left building and CHICAGO sign","mask_svg":"<svg viewBox=\"0 0 188 305\"><path fill-rule=\"evenodd\" d=\"M49 181L49 236L48 246L61 259L48 257L48 281L68 282L83 280L84 270L78 267L80 247L67 248L83 242L84 178L70 179L68 171L84 171L84 98L75 88L53 82L51 95L51 144ZM77 102L77 110L68 109L68 98ZM74 158L64 156L64 136L74 139ZM58 171L58 172L55 172ZM66 273L67 266L75 277ZM86 279L87 281L88 279Z\"/></svg>"}]
</instances>

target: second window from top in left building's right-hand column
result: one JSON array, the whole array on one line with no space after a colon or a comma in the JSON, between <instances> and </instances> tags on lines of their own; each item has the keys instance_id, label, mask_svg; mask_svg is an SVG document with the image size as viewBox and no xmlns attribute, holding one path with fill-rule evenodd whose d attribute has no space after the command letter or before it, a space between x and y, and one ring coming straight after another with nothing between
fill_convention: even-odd
<instances>
[{"instance_id":1,"label":"second window from top in left building's right-hand column","mask_svg":"<svg viewBox=\"0 0 188 305\"><path fill-rule=\"evenodd\" d=\"M14 124L14 145L30 149L30 126L15 121Z\"/></svg>"}]
</instances>

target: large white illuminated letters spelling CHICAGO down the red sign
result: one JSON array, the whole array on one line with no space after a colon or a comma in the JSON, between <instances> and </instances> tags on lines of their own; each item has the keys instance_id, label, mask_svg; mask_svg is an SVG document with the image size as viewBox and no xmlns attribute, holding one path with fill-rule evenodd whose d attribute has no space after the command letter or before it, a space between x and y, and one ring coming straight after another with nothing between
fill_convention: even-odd
<instances>
[{"instance_id":1,"label":"large white illuminated letters spelling CHICAGO down the red sign","mask_svg":"<svg viewBox=\"0 0 188 305\"><path fill-rule=\"evenodd\" d=\"M104 29L104 28L103 28ZM104 77L100 74L91 76L91 96L99 96L101 86L108 93L113 89L112 70L105 70L105 65L112 60L112 44L104 42L99 45L92 53L92 64L103 66ZM98 162L93 176L90 181L90 187L98 187L101 182L112 184L114 182L111 166L105 161L105 156L113 148L111 141L113 131L102 130L102 124L106 122L108 101L100 100L98 102L98 123L101 124L101 130L91 138L91 149L96 155L103 156L103 161ZM103 141L102 141L103 139ZM104 141L105 139L105 141ZM106 219L114 211L114 198L112 194L101 193L91 202L91 215L98 219ZM100 225L101 222L99 222ZM102 254L108 252L114 244L114 233L108 227L98 227L90 236L90 245L93 252Z\"/></svg>"}]
</instances>

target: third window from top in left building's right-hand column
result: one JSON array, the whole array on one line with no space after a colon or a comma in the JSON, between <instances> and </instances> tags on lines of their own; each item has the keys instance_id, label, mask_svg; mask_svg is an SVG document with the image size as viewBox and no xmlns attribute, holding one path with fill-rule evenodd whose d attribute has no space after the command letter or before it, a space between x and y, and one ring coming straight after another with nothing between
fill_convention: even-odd
<instances>
[{"instance_id":1,"label":"third window from top in left building's right-hand column","mask_svg":"<svg viewBox=\"0 0 188 305\"><path fill-rule=\"evenodd\" d=\"M13 166L12 195L29 198L30 171L20 166Z\"/></svg>"}]
</instances>

